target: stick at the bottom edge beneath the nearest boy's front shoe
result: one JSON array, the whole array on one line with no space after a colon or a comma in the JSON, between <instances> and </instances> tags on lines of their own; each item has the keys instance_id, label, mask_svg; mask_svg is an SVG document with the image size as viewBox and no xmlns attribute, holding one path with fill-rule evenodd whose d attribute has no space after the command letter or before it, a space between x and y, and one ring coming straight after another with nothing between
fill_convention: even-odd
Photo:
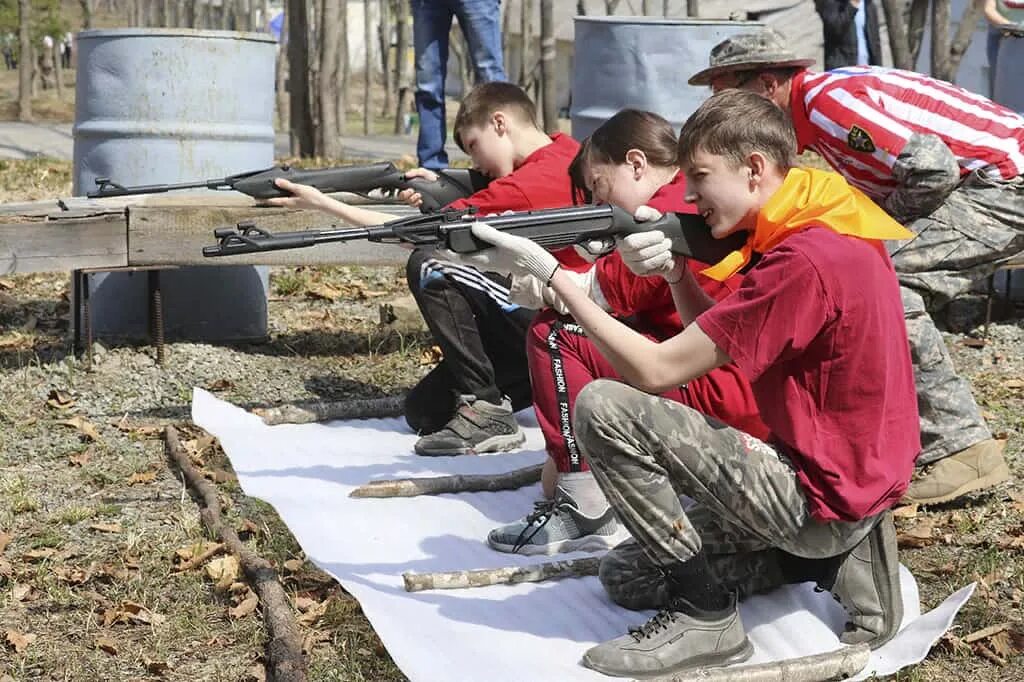
<instances>
[{"instance_id":1,"label":"stick at the bottom edge beneath the nearest boy's front shoe","mask_svg":"<svg viewBox=\"0 0 1024 682\"><path fill-rule=\"evenodd\" d=\"M799 656L757 666L701 669L657 677L647 682L823 682L846 679L862 671L871 657L867 644L844 646L835 651Z\"/></svg>"}]
</instances>

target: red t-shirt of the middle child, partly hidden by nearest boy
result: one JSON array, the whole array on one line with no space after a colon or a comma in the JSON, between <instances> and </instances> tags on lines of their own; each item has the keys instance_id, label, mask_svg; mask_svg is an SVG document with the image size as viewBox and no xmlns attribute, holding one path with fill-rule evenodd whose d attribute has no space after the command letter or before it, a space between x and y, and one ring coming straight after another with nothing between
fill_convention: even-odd
<instances>
[{"instance_id":1,"label":"red t-shirt of the middle child, partly hidden by nearest boy","mask_svg":"<svg viewBox=\"0 0 1024 682\"><path fill-rule=\"evenodd\" d=\"M647 205L662 213L695 213L696 207L683 201L686 196L686 180L678 173L668 184L663 185ZM700 288L715 300L721 300L738 289L742 276L735 275L726 282L718 282L700 274L708 267L690 259L688 266L696 275ZM597 260L597 281L601 293L612 313L621 317L633 317L635 329L665 340L683 331L683 323L672 300L672 290L662 278L637 276L623 262L614 251ZM686 384L686 404L706 415L720 419L729 426L750 433L756 438L769 437L758 414L757 401L751 391L751 384L743 373L733 364L709 372Z\"/></svg>"}]
</instances>

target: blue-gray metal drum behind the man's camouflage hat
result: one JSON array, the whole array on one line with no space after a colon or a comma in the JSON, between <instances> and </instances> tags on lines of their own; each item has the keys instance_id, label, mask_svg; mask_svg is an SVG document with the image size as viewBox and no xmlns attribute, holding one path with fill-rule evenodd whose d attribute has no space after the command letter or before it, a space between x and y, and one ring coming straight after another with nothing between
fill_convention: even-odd
<instances>
[{"instance_id":1,"label":"blue-gray metal drum behind the man's camouflage hat","mask_svg":"<svg viewBox=\"0 0 1024 682\"><path fill-rule=\"evenodd\" d=\"M678 130L711 94L686 81L708 66L711 48L759 22L577 16L572 136L583 139L624 108L660 114Z\"/></svg>"}]
</instances>

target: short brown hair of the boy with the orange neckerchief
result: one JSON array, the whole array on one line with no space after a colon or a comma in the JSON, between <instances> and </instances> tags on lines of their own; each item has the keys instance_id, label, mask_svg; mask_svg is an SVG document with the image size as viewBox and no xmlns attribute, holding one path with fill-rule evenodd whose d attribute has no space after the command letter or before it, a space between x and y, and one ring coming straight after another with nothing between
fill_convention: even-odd
<instances>
[{"instance_id":1,"label":"short brown hair of the boy with the orange neckerchief","mask_svg":"<svg viewBox=\"0 0 1024 682\"><path fill-rule=\"evenodd\" d=\"M760 152L782 172L793 167L797 137L785 113L770 99L745 90L723 90L707 99L679 133L679 160L693 162L697 150L733 165Z\"/></svg>"}]
</instances>

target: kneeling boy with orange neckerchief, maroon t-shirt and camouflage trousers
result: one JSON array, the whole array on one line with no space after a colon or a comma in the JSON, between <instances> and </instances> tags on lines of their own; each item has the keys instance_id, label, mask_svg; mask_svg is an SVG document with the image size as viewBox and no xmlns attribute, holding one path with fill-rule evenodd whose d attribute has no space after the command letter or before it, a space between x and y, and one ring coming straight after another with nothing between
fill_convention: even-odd
<instances>
[{"instance_id":1,"label":"kneeling boy with orange neckerchief, maroon t-shirt and camouflage trousers","mask_svg":"<svg viewBox=\"0 0 1024 682\"><path fill-rule=\"evenodd\" d=\"M902 616L889 509L921 451L899 285L881 240L909 232L841 176L793 168L792 126L756 94L706 101L679 151L686 201L712 235L748 231L703 273L745 275L716 302L664 233L623 238L630 269L671 287L685 327L665 341L610 316L542 246L472 226L497 247L488 262L546 283L628 382L584 387L573 429L643 564L662 577L634 605L660 610L583 663L651 677L743 660L753 647L735 593L805 580L847 608L844 642L879 646ZM750 378L770 442L656 395L729 361Z\"/></svg>"}]
</instances>

